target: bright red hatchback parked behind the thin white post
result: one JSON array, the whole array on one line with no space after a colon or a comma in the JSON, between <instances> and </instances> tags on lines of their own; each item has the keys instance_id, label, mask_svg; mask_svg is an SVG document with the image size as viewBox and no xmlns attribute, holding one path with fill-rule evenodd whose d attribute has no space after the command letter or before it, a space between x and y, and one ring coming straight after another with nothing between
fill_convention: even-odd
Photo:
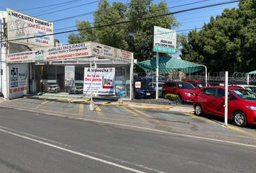
<instances>
[{"instance_id":1,"label":"bright red hatchback parked behind the thin white post","mask_svg":"<svg viewBox=\"0 0 256 173\"><path fill-rule=\"evenodd\" d=\"M224 86L208 86L197 94L195 115L212 114L224 117ZM228 118L235 125L256 124L256 94L237 86L229 86Z\"/></svg>"}]
</instances>

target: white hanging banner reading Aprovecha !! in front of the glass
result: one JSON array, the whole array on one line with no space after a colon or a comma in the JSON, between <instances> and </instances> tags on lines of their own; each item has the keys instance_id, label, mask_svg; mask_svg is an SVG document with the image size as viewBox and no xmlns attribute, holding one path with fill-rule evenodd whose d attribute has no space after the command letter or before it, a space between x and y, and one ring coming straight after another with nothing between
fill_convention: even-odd
<instances>
[{"instance_id":1,"label":"white hanging banner reading Aprovecha !! in front of the glass","mask_svg":"<svg viewBox=\"0 0 256 173\"><path fill-rule=\"evenodd\" d=\"M115 68L85 68L83 94L114 95Z\"/></svg>"}]
</instances>

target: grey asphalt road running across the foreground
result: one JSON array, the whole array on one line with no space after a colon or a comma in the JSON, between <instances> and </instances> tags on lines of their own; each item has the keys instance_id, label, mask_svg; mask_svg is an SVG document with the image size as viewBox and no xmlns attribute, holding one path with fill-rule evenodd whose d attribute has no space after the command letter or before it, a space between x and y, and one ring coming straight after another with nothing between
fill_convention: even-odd
<instances>
[{"instance_id":1,"label":"grey asphalt road running across the foreground","mask_svg":"<svg viewBox=\"0 0 256 173\"><path fill-rule=\"evenodd\" d=\"M0 172L255 172L256 148L0 108Z\"/></svg>"}]
</instances>

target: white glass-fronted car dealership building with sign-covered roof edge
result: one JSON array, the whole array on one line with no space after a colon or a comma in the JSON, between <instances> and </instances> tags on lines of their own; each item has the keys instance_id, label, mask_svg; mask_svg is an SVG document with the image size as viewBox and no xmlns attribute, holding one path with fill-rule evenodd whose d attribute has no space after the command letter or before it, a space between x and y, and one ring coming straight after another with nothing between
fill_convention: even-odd
<instances>
[{"instance_id":1,"label":"white glass-fronted car dealership building with sign-covered roof edge","mask_svg":"<svg viewBox=\"0 0 256 173\"><path fill-rule=\"evenodd\" d=\"M84 95L93 93L99 97L108 95L132 99L133 53L91 42L54 47L54 37L51 35L53 24L39 22L40 19L33 17L29 21L22 21L28 19L27 15L20 14L24 17L16 19L16 14L20 13L11 9L0 12L1 38L4 38L1 41L3 73L0 81L5 98L14 99L29 93L70 92L70 89L83 88ZM8 17L7 24L4 24L4 19ZM33 24L36 21L38 24ZM38 37L40 35L43 36ZM113 68L114 79L104 80L106 85L111 85L111 92L99 91L109 86L98 88L97 92L86 89L85 68ZM101 71L99 73L102 74ZM94 89L93 86L89 87Z\"/></svg>"}]
</instances>

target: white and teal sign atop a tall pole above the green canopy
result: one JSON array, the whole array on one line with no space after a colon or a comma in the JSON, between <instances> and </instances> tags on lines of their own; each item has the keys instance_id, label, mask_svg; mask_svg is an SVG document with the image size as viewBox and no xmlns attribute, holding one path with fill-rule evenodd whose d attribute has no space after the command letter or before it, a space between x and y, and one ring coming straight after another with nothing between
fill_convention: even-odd
<instances>
[{"instance_id":1,"label":"white and teal sign atop a tall pole above the green canopy","mask_svg":"<svg viewBox=\"0 0 256 173\"><path fill-rule=\"evenodd\" d=\"M175 30L154 26L153 51L159 53L176 53L176 37L177 32Z\"/></svg>"}]
</instances>

